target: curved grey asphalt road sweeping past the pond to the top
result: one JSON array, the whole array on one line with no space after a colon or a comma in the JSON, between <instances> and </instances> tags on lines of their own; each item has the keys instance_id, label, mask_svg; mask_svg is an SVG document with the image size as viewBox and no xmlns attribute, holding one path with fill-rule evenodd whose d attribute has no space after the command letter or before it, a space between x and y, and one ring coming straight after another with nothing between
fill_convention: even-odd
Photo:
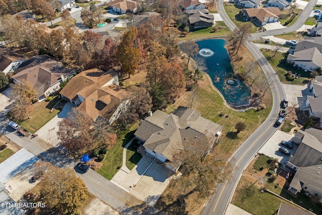
<instances>
[{"instance_id":1,"label":"curved grey asphalt road sweeping past the pond to the top","mask_svg":"<svg viewBox=\"0 0 322 215\"><path fill-rule=\"evenodd\" d=\"M305 9L302 11L300 17L291 27L256 33L252 36L252 39L263 36L289 33L299 29L306 21L316 2L317 0L309 1ZM236 26L231 22L225 13L223 8L223 0L219 0L216 6L218 13L221 15L221 18L225 24L230 28L230 30L233 31ZM265 144L267 139L277 130L275 122L280 109L280 102L285 98L283 88L277 76L275 75L274 69L258 50L258 48L252 42L248 42L246 46L254 55L270 82L273 94L273 108L265 122L233 154L230 160L235 167L232 172L232 179L218 185L217 192L207 202L201 214L224 214L237 182L239 181L241 173L247 167L251 159L256 155L258 150Z\"/></svg>"}]
</instances>

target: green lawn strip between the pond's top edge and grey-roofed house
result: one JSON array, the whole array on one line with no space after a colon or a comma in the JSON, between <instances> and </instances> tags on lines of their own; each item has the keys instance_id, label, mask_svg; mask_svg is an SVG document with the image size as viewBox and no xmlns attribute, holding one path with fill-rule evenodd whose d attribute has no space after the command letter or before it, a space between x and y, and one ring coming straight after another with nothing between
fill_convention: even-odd
<instances>
[{"instance_id":1,"label":"green lawn strip between the pond's top edge and grey-roofed house","mask_svg":"<svg viewBox=\"0 0 322 215\"><path fill-rule=\"evenodd\" d=\"M185 37L176 37L176 40L177 41L185 41L185 40L193 40L193 39L207 38L207 37L227 36L227 35L232 34L230 29L226 26L226 24L224 22L216 22L216 23L217 24L215 27L208 27L208 28L192 30ZM226 28L219 29L220 26L224 26ZM213 28L217 29L217 31L214 33L213 33Z\"/></svg>"}]
</instances>

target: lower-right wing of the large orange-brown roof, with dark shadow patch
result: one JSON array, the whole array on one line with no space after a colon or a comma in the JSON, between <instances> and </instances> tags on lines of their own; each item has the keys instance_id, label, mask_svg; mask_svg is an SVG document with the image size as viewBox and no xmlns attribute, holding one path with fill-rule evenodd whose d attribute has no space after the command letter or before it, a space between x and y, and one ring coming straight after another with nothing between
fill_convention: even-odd
<instances>
[{"instance_id":1,"label":"lower-right wing of the large orange-brown roof, with dark shadow patch","mask_svg":"<svg viewBox=\"0 0 322 215\"><path fill-rule=\"evenodd\" d=\"M125 89L118 85L109 85L97 89L79 105L79 109L93 119L102 116L110 119L121 101L128 99Z\"/></svg>"}]
</instances>

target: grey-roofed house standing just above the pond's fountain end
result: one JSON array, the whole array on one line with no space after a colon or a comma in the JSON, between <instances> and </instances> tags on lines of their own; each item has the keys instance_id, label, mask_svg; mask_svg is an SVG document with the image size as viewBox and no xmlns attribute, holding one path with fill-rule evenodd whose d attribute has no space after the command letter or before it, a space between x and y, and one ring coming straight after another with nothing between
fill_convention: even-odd
<instances>
[{"instance_id":1,"label":"grey-roofed house standing just above the pond's fountain end","mask_svg":"<svg viewBox=\"0 0 322 215\"><path fill-rule=\"evenodd\" d=\"M207 9L187 11L190 29L207 28L215 24L213 15Z\"/></svg>"}]
</instances>

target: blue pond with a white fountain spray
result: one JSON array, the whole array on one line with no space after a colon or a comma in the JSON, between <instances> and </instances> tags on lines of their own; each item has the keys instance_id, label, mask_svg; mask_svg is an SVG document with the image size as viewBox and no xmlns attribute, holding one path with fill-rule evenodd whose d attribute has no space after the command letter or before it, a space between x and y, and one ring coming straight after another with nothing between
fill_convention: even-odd
<instances>
[{"instance_id":1,"label":"blue pond with a white fountain spray","mask_svg":"<svg viewBox=\"0 0 322 215\"><path fill-rule=\"evenodd\" d=\"M250 89L233 73L230 57L225 49L225 40L207 39L196 42L199 45L198 57L202 58L203 70L213 85L220 91L229 105L234 107L249 105Z\"/></svg>"}]
</instances>

